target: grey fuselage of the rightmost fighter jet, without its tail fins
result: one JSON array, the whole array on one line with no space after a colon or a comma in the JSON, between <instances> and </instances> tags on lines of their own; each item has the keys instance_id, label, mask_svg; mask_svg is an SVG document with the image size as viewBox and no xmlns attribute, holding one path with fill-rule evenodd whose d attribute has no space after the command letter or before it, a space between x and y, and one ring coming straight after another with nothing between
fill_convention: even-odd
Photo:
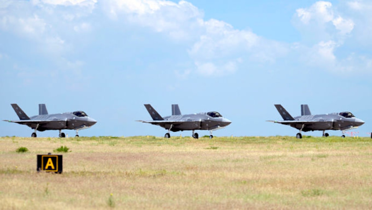
<instances>
[{"instance_id":1,"label":"grey fuselage of the rightmost fighter jet, without its tail fins","mask_svg":"<svg viewBox=\"0 0 372 210\"><path fill-rule=\"evenodd\" d=\"M313 122L304 124L303 128L302 124L290 124L294 128L302 128L302 131L346 130L364 124L364 121L356 118L351 112L340 112L322 115L302 115L294 117L294 119L295 121Z\"/></svg>"}]
</instances>

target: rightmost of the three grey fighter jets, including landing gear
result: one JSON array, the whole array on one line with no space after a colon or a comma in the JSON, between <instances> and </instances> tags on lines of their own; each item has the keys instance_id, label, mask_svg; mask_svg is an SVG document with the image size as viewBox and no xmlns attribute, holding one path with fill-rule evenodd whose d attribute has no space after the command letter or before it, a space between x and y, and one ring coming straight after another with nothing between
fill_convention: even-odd
<instances>
[{"instance_id":1,"label":"rightmost of the three grey fighter jets, including landing gear","mask_svg":"<svg viewBox=\"0 0 372 210\"><path fill-rule=\"evenodd\" d=\"M276 122L284 125L299 129L296 138L302 138L301 132L307 131L323 131L323 137L328 137L325 130L341 130L344 133L346 130L357 128L364 124L364 121L356 118L351 112L339 112L331 114L311 115L309 106L307 104L301 105L301 116L292 117L285 108L280 104L275 104L276 109L282 115L284 121L269 121Z\"/></svg>"}]
</instances>

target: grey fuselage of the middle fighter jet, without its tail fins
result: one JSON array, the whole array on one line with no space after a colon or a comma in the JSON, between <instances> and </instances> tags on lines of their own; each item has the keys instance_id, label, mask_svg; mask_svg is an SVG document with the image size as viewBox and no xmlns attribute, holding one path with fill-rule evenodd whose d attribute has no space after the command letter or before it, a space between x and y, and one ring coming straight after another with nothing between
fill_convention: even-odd
<instances>
[{"instance_id":1,"label":"grey fuselage of the middle fighter jet, without its tail fins","mask_svg":"<svg viewBox=\"0 0 372 210\"><path fill-rule=\"evenodd\" d=\"M231 124L218 112L203 112L198 114L171 115L164 117L164 121L176 121L174 124L164 124L161 127L171 131L184 130L214 130Z\"/></svg>"}]
</instances>

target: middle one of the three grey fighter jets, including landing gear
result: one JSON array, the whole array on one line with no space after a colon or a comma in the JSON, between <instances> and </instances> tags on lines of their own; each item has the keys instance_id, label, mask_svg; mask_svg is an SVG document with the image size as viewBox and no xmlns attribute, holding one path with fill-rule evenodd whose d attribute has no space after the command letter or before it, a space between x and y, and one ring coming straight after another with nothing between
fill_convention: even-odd
<instances>
[{"instance_id":1,"label":"middle one of the three grey fighter jets, including landing gear","mask_svg":"<svg viewBox=\"0 0 372 210\"><path fill-rule=\"evenodd\" d=\"M159 125L167 129L168 132L165 134L165 138L170 138L170 131L177 132L184 130L192 130L193 138L199 138L195 130L209 130L211 133L209 138L213 138L212 131L224 128L231 123L230 120L222 117L218 112L182 115L178 104L172 104L172 115L163 118L150 104L144 105L153 118L153 121L138 121Z\"/></svg>"}]
</instances>

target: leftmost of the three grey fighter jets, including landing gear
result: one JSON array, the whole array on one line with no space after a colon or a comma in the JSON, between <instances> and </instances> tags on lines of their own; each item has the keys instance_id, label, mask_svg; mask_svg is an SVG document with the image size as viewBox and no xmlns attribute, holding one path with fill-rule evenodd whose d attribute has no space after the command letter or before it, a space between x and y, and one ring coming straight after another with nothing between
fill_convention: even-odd
<instances>
[{"instance_id":1,"label":"leftmost of the three grey fighter jets, including landing gear","mask_svg":"<svg viewBox=\"0 0 372 210\"><path fill-rule=\"evenodd\" d=\"M76 137L78 137L79 130L90 128L97 122L93 118L88 117L88 115L83 111L49 115L45 104L39 104L39 115L30 118L17 104L11 105L17 113L19 120L3 121L15 122L35 129L31 134L31 137L36 137L36 131L60 130L59 136L64 138L65 134L61 132L62 129L74 129L76 130Z\"/></svg>"}]
</instances>

